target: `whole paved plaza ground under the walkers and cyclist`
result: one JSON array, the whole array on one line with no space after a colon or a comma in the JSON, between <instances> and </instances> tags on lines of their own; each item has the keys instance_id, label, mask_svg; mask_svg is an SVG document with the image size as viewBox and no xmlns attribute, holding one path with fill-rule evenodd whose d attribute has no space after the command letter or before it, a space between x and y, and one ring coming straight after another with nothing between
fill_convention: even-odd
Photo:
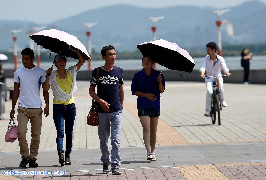
<instances>
[{"instance_id":1,"label":"whole paved plaza ground under the walkers and cyclist","mask_svg":"<svg viewBox=\"0 0 266 180\"><path fill-rule=\"evenodd\" d=\"M9 80L8 84L12 84ZM10 85L9 85L10 86ZM161 97L156 157L145 159L142 127L137 118L136 96L125 81L125 103L121 125L121 176L101 174L97 127L86 124L91 98L88 81L78 81L74 94L77 116L74 125L73 152L69 166L58 166L56 130L50 116L43 118L40 152L36 170L67 171L64 177L26 179L266 179L266 86L224 84L228 107L221 111L221 126L203 116L205 84L167 82ZM18 141L4 142L11 101L6 102L6 120L0 120L0 174L17 168L20 161ZM27 139L30 142L30 123ZM35 170L34 169L34 170ZM26 169L30 170L30 169ZM33 170L33 169L31 169ZM77 172L78 171L78 172ZM8 176L0 176L8 178ZM17 177L16 177L17 178Z\"/></svg>"}]
</instances>

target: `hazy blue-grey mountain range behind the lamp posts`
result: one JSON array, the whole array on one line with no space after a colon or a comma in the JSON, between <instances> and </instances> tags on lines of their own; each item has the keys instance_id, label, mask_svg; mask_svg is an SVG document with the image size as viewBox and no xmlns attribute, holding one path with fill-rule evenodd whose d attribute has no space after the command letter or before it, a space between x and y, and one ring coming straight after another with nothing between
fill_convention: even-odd
<instances>
[{"instance_id":1,"label":"hazy blue-grey mountain range behind the lamp posts","mask_svg":"<svg viewBox=\"0 0 266 180\"><path fill-rule=\"evenodd\" d=\"M266 4L247 1L239 6L228 7L220 17L223 44L257 44L266 42ZM46 25L46 29L58 29L76 36L86 47L85 22L98 22L90 28L93 50L99 52L105 45L114 45L120 51L134 51L136 45L152 40L151 26L144 17L164 16L155 23L157 39L177 43L181 48L204 47L207 42L217 40L217 17L209 11L213 7L173 6L164 8L140 8L130 5L106 6L88 10L50 24L30 21L0 20L0 50L12 48L10 30L23 29L17 34L20 48L29 45L25 32L30 27ZM45 15L45 14L36 14ZM233 35L227 33L228 24L233 26ZM231 32L232 33L232 32Z\"/></svg>"}]
</instances>

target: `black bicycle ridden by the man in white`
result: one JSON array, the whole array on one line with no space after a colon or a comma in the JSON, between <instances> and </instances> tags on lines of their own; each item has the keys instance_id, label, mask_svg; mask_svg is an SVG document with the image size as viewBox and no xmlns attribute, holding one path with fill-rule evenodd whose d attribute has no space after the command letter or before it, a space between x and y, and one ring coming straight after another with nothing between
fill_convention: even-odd
<instances>
[{"instance_id":1,"label":"black bicycle ridden by the man in white","mask_svg":"<svg viewBox=\"0 0 266 180\"><path fill-rule=\"evenodd\" d=\"M227 76L227 75L205 76L205 78L207 78L207 79L208 78L214 78L215 79L215 81L213 82L213 94L212 94L210 117L212 118L212 123L215 124L216 112L217 112L218 125L221 125L220 111L222 110L222 102L221 102L221 96L220 96L220 85L219 85L219 81L218 81L219 77L229 77L229 76Z\"/></svg>"}]
</instances>

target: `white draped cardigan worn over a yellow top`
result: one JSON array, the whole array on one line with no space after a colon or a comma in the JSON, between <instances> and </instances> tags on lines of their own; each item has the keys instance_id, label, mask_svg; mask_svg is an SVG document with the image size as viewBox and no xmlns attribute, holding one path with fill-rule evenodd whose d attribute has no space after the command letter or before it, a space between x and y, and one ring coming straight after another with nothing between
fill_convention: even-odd
<instances>
[{"instance_id":1,"label":"white draped cardigan worn over a yellow top","mask_svg":"<svg viewBox=\"0 0 266 180\"><path fill-rule=\"evenodd\" d=\"M67 94L60 88L60 86L57 84L56 81L56 71L52 71L49 79L49 84L53 91L53 99L59 101L67 101L73 96L74 92L77 91L77 86L76 86L77 65L69 67L68 69L66 69L66 71L68 71L71 74L73 79L71 91L69 94Z\"/></svg>"}]
</instances>

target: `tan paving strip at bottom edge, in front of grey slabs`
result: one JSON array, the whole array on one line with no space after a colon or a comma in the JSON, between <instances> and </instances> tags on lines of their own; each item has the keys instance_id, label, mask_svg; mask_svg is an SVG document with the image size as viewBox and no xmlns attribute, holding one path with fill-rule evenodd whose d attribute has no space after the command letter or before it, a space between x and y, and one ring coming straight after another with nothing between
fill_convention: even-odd
<instances>
[{"instance_id":1,"label":"tan paving strip at bottom edge, in front of grey slabs","mask_svg":"<svg viewBox=\"0 0 266 180\"><path fill-rule=\"evenodd\" d=\"M196 165L196 166L177 166L179 171L187 180L210 179L210 180L228 180L214 165Z\"/></svg>"}]
</instances>

